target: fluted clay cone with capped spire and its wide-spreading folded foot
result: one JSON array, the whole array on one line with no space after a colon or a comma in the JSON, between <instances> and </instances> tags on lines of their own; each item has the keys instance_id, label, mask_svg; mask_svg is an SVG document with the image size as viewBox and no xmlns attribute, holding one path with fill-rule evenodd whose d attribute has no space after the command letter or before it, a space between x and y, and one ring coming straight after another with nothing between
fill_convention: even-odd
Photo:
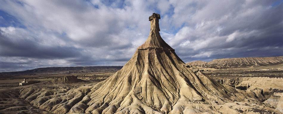
<instances>
[{"instance_id":1,"label":"fluted clay cone with capped spire and its wide-spreading folded foot","mask_svg":"<svg viewBox=\"0 0 283 114\"><path fill-rule=\"evenodd\" d=\"M161 38L158 19L156 14L150 17L147 41L138 47L121 70L106 80L73 89L27 86L18 94L2 91L3 103L25 99L35 106L26 111L57 114L259 113L254 110L279 113L260 105L254 96L244 91L223 86L200 71L193 72ZM11 108L4 108L4 111L21 110Z\"/></svg>"}]
</instances>

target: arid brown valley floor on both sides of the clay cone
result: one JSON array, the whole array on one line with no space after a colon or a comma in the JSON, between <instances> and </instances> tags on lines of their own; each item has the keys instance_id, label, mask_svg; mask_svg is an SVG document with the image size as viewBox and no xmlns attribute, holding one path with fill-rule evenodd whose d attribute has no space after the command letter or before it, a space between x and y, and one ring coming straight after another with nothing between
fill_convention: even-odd
<instances>
[{"instance_id":1,"label":"arid brown valley floor on both sides of the clay cone","mask_svg":"<svg viewBox=\"0 0 283 114\"><path fill-rule=\"evenodd\" d=\"M44 110L40 110L40 107L32 105L32 98L29 97L29 95L34 93L37 93L36 95L40 95L38 92L42 92L41 94L48 96L52 94L65 93L71 89L79 88L81 86L92 86L105 80L121 68L122 66L40 68L24 72L1 73L0 113L49 113ZM200 70L203 69L200 68ZM259 99L254 99L258 100L258 103L264 104L266 107L282 111L283 64L249 68L206 69L202 72L211 76L221 84L233 86L235 88L250 85L251 87L246 90L240 90L240 88L238 88L237 91L251 91L251 94L257 94L260 96ZM68 76L76 76L84 81L66 83L61 80L60 82L48 82L66 76L67 78ZM26 78L27 81L39 81L39 83L27 86L18 86L19 82L21 82L24 78ZM263 90L264 95L260 94L261 90ZM6 97L8 96L13 97L7 99ZM264 108L255 106L252 103L245 104L248 108L241 109L240 107L237 107L237 104L239 103L240 102L235 102L234 104L231 103L229 106L238 113L268 112L262 110ZM233 108L233 106L235 108ZM255 108L259 110L254 110Z\"/></svg>"}]
</instances>

